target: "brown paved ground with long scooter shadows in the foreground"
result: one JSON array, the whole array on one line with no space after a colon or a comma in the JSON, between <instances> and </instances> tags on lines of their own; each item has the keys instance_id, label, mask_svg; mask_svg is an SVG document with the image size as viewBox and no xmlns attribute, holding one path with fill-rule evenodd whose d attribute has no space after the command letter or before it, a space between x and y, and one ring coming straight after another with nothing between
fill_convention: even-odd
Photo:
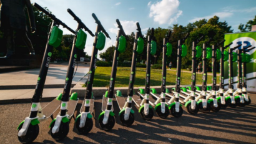
<instances>
[{"instance_id":1,"label":"brown paved ground with long scooter shadows in the foreground","mask_svg":"<svg viewBox=\"0 0 256 144\"><path fill-rule=\"evenodd\" d=\"M251 98L252 104L244 108L227 108L219 113L197 115L190 115L184 110L180 118L169 116L161 119L155 115L149 122L142 120L137 108L133 107L135 122L131 127L123 127L116 117L115 127L105 132L94 120L94 128L86 136L77 134L72 119L67 138L59 142L49 135L51 119L48 119L39 124L40 133L35 143L256 143L256 94L251 95ZM42 103L43 106L46 104ZM114 102L114 105L117 115L117 103ZM0 143L19 143L16 128L28 116L30 107L30 103L0 105ZM79 107L81 104L77 107L78 112ZM96 100L95 108L98 117L101 113L101 98Z\"/></svg>"}]
</instances>

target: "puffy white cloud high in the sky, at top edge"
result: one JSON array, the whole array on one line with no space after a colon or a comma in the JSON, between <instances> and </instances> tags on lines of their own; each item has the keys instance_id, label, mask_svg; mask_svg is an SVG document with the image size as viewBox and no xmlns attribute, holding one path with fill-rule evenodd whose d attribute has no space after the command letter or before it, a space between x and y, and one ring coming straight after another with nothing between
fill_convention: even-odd
<instances>
[{"instance_id":1,"label":"puffy white cloud high in the sky, at top edge","mask_svg":"<svg viewBox=\"0 0 256 144\"><path fill-rule=\"evenodd\" d=\"M149 17L154 17L154 21L159 24L177 22L178 17L182 14L182 11L179 10L179 0L162 0L155 4L149 2L147 5L150 6Z\"/></svg>"}]
</instances>

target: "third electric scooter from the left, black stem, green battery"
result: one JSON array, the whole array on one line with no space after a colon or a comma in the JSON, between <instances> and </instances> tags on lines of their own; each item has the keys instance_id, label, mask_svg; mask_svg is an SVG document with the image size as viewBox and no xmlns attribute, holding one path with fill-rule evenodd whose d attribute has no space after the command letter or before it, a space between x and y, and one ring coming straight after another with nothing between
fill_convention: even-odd
<instances>
[{"instance_id":1,"label":"third electric scooter from the left, black stem, green battery","mask_svg":"<svg viewBox=\"0 0 256 144\"><path fill-rule=\"evenodd\" d=\"M92 130L93 121L92 121L92 113L94 112L94 97L92 92L92 85L94 81L94 74L96 70L96 60L98 50L102 50L105 47L106 37L109 37L109 34L106 32L104 27L101 24L101 21L97 18L95 14L92 14L97 27L92 47L92 57L88 75L88 82L86 85L86 95L84 97L84 101L82 102L82 107L80 110L80 114L76 117L76 128L79 133L87 134ZM105 34L105 35L104 35Z\"/></svg>"}]
</instances>

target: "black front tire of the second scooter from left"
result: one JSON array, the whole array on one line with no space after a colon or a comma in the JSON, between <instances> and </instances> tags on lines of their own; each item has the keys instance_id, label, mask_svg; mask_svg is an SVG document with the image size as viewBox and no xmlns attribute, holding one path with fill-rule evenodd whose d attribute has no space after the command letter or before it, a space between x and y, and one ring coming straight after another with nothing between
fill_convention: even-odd
<instances>
[{"instance_id":1,"label":"black front tire of the second scooter from left","mask_svg":"<svg viewBox=\"0 0 256 144\"><path fill-rule=\"evenodd\" d=\"M63 138L67 137L67 134L69 133L69 122L63 123L61 122L61 125L59 126L59 132L52 133L52 128L54 127L55 122L52 123L51 126L51 136L54 140L62 140Z\"/></svg>"}]
</instances>

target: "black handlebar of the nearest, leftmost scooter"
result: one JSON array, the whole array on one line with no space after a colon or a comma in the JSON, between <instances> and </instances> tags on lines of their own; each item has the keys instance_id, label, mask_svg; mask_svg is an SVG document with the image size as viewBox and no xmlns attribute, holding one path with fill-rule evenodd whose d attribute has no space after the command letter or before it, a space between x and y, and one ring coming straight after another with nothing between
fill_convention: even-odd
<instances>
[{"instance_id":1,"label":"black handlebar of the nearest, leftmost scooter","mask_svg":"<svg viewBox=\"0 0 256 144\"><path fill-rule=\"evenodd\" d=\"M44 14L46 14L47 16L49 16L53 21L57 22L58 24L60 24L60 25L63 26L64 28L68 29L68 30L71 31L73 34L76 33L74 30L72 30L70 27L68 27L64 22L62 22L61 20L57 19L56 16L54 16L54 15L51 14L50 12L46 11L46 9L42 8L41 6L39 6L39 4L37 4L36 2L34 2L33 6L36 7L37 9L39 9L39 11L44 12Z\"/></svg>"}]
</instances>

